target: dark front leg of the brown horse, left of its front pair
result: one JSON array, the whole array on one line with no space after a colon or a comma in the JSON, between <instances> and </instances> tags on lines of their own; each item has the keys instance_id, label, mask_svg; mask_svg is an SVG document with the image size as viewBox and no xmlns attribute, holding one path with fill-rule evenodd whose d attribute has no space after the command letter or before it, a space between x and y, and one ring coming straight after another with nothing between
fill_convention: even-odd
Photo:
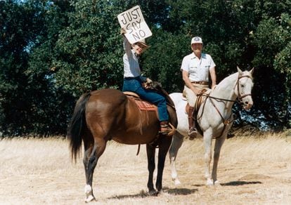
<instances>
[{"instance_id":1,"label":"dark front leg of the brown horse, left of its front pair","mask_svg":"<svg viewBox=\"0 0 291 205\"><path fill-rule=\"evenodd\" d=\"M155 147L152 145L146 145L146 154L148 157L148 192L157 194L153 187L153 172L155 171Z\"/></svg>"}]
</instances>

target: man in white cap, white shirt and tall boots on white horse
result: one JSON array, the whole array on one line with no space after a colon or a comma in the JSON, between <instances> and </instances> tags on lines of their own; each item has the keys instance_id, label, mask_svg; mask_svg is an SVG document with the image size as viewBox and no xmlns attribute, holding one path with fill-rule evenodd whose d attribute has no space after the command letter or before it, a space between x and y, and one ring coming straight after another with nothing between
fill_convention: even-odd
<instances>
[{"instance_id":1,"label":"man in white cap, white shirt and tall boots on white horse","mask_svg":"<svg viewBox=\"0 0 291 205\"><path fill-rule=\"evenodd\" d=\"M181 71L183 81L185 82L183 94L186 96L189 104L188 122L189 122L189 139L197 135L195 123L193 121L193 111L197 95L200 95L203 90L209 89L210 74L212 80L212 88L216 86L215 63L209 54L202 53L203 43L200 37L193 37L191 40L191 48L193 53L186 55L183 58Z\"/></svg>"}]
</instances>

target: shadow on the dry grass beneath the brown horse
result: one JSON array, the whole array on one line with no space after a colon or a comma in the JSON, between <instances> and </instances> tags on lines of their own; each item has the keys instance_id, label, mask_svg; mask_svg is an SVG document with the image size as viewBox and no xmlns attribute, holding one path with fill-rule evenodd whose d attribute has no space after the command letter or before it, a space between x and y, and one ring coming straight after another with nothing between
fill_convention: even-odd
<instances>
[{"instance_id":1,"label":"shadow on the dry grass beneath the brown horse","mask_svg":"<svg viewBox=\"0 0 291 205\"><path fill-rule=\"evenodd\" d=\"M185 189L185 188L174 188L169 189L167 187L164 187L162 192L172 195L189 195L197 192L198 189ZM114 197L109 197L108 199L124 199L124 198L145 198L145 197L153 197L153 196L159 196L162 193L159 194L149 194L148 192L145 192L142 190L139 194L124 194Z\"/></svg>"}]
</instances>

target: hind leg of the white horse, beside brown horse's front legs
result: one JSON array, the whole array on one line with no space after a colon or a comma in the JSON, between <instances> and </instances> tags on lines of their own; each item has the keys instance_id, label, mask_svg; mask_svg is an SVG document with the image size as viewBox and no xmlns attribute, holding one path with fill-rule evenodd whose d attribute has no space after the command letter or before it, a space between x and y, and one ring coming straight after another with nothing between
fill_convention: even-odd
<instances>
[{"instance_id":1,"label":"hind leg of the white horse, beside brown horse's front legs","mask_svg":"<svg viewBox=\"0 0 291 205\"><path fill-rule=\"evenodd\" d=\"M172 171L172 180L174 180L175 185L180 185L181 182L178 178L178 173L176 171L176 157L178 154L178 150L180 149L183 143L183 135L176 132L173 135L172 145L169 148L169 160L171 164L171 171Z\"/></svg>"}]
</instances>

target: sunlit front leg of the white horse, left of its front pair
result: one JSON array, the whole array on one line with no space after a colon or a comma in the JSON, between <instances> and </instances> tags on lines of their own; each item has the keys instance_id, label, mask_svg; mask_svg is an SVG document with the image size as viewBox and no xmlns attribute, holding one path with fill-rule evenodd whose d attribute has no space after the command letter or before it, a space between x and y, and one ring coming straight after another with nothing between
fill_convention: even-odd
<instances>
[{"instance_id":1,"label":"sunlit front leg of the white horse, left of its front pair","mask_svg":"<svg viewBox=\"0 0 291 205\"><path fill-rule=\"evenodd\" d=\"M205 131L203 133L203 143L205 148L205 178L206 185L213 185L213 180L210 176L210 162L212 159L212 131Z\"/></svg>"}]
</instances>

